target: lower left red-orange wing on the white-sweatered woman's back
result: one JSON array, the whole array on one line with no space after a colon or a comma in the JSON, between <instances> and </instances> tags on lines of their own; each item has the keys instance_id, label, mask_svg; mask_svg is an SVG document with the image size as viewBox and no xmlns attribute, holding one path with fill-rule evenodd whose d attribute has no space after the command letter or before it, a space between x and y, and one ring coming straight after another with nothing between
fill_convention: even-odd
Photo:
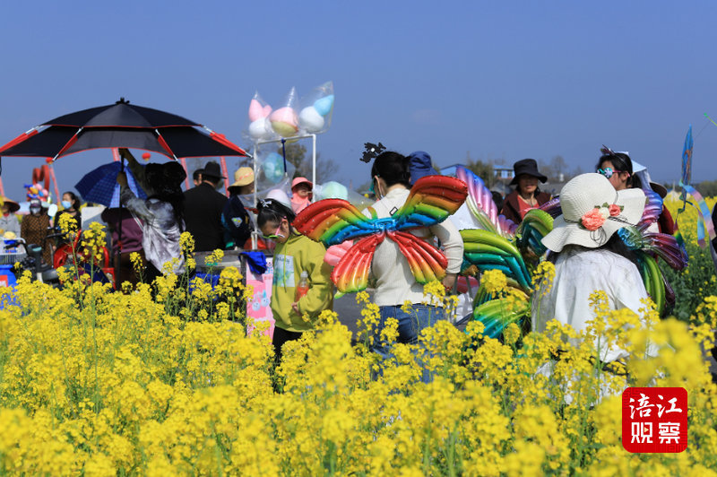
<instances>
[{"instance_id":1,"label":"lower left red-orange wing on the white-sweatered woman's back","mask_svg":"<svg viewBox=\"0 0 717 477\"><path fill-rule=\"evenodd\" d=\"M368 271L374 259L376 246L384 240L384 233L376 233L358 240L346 255L333 267L331 280L341 293L365 290L368 286Z\"/></svg>"}]
</instances>

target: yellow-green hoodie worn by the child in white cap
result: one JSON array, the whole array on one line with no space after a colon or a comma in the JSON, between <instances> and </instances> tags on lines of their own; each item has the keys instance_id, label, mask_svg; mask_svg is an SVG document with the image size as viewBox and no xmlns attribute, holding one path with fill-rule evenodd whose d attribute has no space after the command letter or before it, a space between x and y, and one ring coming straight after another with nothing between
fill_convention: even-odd
<instances>
[{"instance_id":1,"label":"yellow-green hoodie worn by the child in white cap","mask_svg":"<svg viewBox=\"0 0 717 477\"><path fill-rule=\"evenodd\" d=\"M333 308L331 266L324 263L326 248L308 237L292 233L285 243L276 244L273 265L272 312L281 329L302 332L314 327L324 309ZM291 308L296 286L304 270L308 273L308 293L298 300L300 315ZM306 321L303 316L308 316Z\"/></svg>"}]
</instances>

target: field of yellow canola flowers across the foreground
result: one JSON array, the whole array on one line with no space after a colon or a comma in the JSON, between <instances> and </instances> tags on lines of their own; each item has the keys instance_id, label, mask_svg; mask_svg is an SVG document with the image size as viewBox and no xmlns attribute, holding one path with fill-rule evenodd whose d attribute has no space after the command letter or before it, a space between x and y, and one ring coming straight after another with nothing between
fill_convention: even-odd
<instances>
[{"instance_id":1,"label":"field of yellow canola flowers across the foreground","mask_svg":"<svg viewBox=\"0 0 717 477\"><path fill-rule=\"evenodd\" d=\"M183 237L191 256L191 236ZM549 265L538 274L552 280ZM24 276L18 306L0 310L3 473L702 476L717 469L717 386L701 350L713 344L717 297L695 307L690 325L659 321L648 302L642 322L650 325L640 326L597 292L597 318L583 333L556 322L542 334L511 324L502 342L483 336L479 322L463 332L442 321L417 345L395 343L397 324L388 320L382 338L393 357L377 363L367 343L378 307L361 292L355 344L327 310L315 331L287 343L275 366L268 336L246 334L242 304L251 291L236 269L223 270L213 289L166 273L154 289L141 283L126 294L98 283L75 290L66 278L56 290ZM488 281L508 301L524 299L505 277ZM438 285L427 286L427 301L450 306ZM595 360L609 345L629 351L626 373ZM651 347L657 352L646 352ZM424 368L435 376L428 385L419 381ZM687 388L685 452L622 448L619 392L627 385Z\"/></svg>"}]
</instances>

